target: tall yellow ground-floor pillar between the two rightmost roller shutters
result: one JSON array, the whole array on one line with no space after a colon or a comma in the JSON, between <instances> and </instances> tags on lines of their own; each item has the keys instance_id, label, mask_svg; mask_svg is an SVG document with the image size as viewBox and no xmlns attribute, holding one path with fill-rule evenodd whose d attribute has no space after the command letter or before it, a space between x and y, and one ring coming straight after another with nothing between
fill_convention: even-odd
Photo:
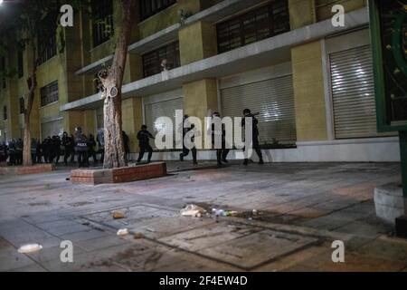
<instances>
[{"instance_id":1,"label":"tall yellow ground-floor pillar between the two rightmost roller shutters","mask_svg":"<svg viewBox=\"0 0 407 290\"><path fill-rule=\"evenodd\" d=\"M307 43L291 50L297 140L327 140L327 113L321 44Z\"/></svg>"}]
</instances>

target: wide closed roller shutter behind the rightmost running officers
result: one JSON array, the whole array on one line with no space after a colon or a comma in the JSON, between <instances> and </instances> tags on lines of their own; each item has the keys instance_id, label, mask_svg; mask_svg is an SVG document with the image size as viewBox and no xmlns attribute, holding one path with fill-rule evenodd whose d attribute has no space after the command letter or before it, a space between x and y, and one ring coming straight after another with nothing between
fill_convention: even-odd
<instances>
[{"instance_id":1,"label":"wide closed roller shutter behind the rightmost running officers","mask_svg":"<svg viewBox=\"0 0 407 290\"><path fill-rule=\"evenodd\" d=\"M292 75L222 89L223 117L241 117L246 108L260 112L260 143L296 141Z\"/></svg>"}]
</instances>

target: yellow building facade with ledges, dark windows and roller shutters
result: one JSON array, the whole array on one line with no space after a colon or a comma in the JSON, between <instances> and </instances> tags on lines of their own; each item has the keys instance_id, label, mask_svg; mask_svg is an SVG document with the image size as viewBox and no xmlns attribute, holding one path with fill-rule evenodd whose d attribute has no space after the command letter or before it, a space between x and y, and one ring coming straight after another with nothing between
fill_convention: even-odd
<instances>
[{"instance_id":1,"label":"yellow building facade with ledges, dark windows and roller shutters","mask_svg":"<svg viewBox=\"0 0 407 290\"><path fill-rule=\"evenodd\" d=\"M364 0L141 0L128 47L123 130L137 154L142 124L162 130L158 117L175 110L201 119L213 111L238 117L259 111L265 160L398 161L396 135L376 130L369 16ZM345 26L331 22L345 7ZM38 68L32 116L37 138L103 128L95 74L111 63L115 5L76 13L74 26L47 49ZM97 21L100 19L103 21ZM52 43L52 42L51 42ZM27 93L28 51L10 52L0 65L21 68L0 87L1 139L19 138ZM163 70L166 60L166 70ZM232 152L231 158L235 152ZM156 152L157 160L178 152ZM215 159L211 150L200 159Z\"/></svg>"}]
</instances>

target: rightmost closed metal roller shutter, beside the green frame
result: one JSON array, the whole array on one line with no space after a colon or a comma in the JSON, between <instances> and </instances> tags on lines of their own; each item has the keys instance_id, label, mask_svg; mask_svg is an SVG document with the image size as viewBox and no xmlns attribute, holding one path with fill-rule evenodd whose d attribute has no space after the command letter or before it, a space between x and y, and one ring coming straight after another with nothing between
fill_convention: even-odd
<instances>
[{"instance_id":1,"label":"rightmost closed metal roller shutter, beside the green frame","mask_svg":"<svg viewBox=\"0 0 407 290\"><path fill-rule=\"evenodd\" d=\"M329 54L336 139L378 136L370 45Z\"/></svg>"}]
</instances>

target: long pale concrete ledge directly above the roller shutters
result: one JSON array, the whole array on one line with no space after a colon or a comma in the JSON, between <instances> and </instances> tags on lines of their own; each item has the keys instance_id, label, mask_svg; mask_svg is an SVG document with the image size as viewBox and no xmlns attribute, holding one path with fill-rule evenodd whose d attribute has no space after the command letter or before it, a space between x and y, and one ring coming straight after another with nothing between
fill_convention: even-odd
<instances>
[{"instance_id":1,"label":"long pale concrete ledge directly above the roller shutters","mask_svg":"<svg viewBox=\"0 0 407 290\"><path fill-rule=\"evenodd\" d=\"M122 87L122 98L144 97L180 88L184 83L205 78L221 78L254 70L267 65L286 63L292 47L316 41L332 34L345 32L369 23L367 8L345 14L345 26L334 27L331 20L251 43L231 52L190 63L174 70L159 73ZM100 94L61 106L61 111L96 109L102 105Z\"/></svg>"}]
</instances>

